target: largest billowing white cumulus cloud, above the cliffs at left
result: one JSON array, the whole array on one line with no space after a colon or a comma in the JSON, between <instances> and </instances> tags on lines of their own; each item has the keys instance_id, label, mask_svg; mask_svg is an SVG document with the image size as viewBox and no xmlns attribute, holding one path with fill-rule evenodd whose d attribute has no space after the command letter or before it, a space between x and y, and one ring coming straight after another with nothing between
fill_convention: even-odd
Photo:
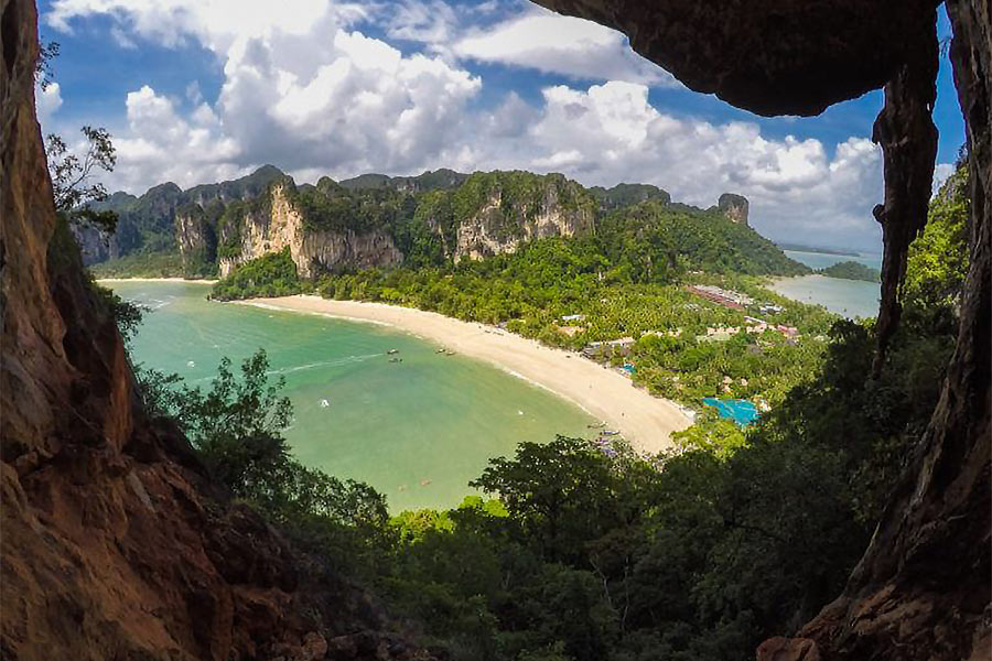
<instances>
[{"instance_id":1,"label":"largest billowing white cumulus cloud, above the cliffs at left","mask_svg":"<svg viewBox=\"0 0 992 661\"><path fill-rule=\"evenodd\" d=\"M266 162L333 175L408 170L440 158L482 85L440 57L407 56L348 31L358 10L316 0L290 0L278 12L218 4L229 13L193 0L61 0L46 17L68 26L74 17L106 13L161 44L192 36L224 63L213 106L195 82L185 94L192 111L150 86L128 95L110 185L185 186Z\"/></svg>"}]
</instances>

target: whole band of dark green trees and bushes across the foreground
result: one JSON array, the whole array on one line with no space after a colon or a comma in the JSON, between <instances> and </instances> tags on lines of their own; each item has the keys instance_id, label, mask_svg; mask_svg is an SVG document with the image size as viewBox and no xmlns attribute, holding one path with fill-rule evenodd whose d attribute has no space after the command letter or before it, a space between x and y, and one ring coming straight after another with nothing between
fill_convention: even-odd
<instances>
[{"instance_id":1,"label":"whole band of dark green trees and bushes across the foreground","mask_svg":"<svg viewBox=\"0 0 992 661\"><path fill-rule=\"evenodd\" d=\"M524 442L472 483L498 500L392 519L289 455L263 354L239 377L222 362L207 392L142 382L217 479L454 659L743 661L842 589L937 399L948 343L903 334L870 381L871 328L832 334L822 371L736 447Z\"/></svg>"}]
</instances>

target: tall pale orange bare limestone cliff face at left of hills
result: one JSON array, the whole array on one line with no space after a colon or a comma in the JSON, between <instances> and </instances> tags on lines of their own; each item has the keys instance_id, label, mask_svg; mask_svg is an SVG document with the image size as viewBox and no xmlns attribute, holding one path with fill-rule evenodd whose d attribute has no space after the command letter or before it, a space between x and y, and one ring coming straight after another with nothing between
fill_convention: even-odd
<instances>
[{"instance_id":1,"label":"tall pale orange bare limestone cliff face at left of hills","mask_svg":"<svg viewBox=\"0 0 992 661\"><path fill-rule=\"evenodd\" d=\"M239 263L287 247L303 278L312 278L321 270L388 267L402 260L385 230L356 232L308 228L303 214L293 205L282 183L273 184L268 199L245 216L239 232L240 253L220 258L222 277ZM222 236L222 242L225 238Z\"/></svg>"}]
</instances>

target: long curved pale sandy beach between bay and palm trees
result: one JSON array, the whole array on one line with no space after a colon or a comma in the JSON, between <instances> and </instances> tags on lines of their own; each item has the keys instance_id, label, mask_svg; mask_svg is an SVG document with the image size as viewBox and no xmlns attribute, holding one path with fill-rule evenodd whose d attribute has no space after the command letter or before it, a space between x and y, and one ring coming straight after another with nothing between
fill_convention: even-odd
<instances>
[{"instance_id":1,"label":"long curved pale sandy beach between bay and palm trees","mask_svg":"<svg viewBox=\"0 0 992 661\"><path fill-rule=\"evenodd\" d=\"M557 349L495 326L463 322L413 307L335 301L296 294L236 301L269 310L313 314L349 322L373 323L412 334L459 354L483 360L543 388L622 432L640 452L672 447L671 432L691 424L678 404L651 395L615 370L581 354Z\"/></svg>"}]
</instances>

